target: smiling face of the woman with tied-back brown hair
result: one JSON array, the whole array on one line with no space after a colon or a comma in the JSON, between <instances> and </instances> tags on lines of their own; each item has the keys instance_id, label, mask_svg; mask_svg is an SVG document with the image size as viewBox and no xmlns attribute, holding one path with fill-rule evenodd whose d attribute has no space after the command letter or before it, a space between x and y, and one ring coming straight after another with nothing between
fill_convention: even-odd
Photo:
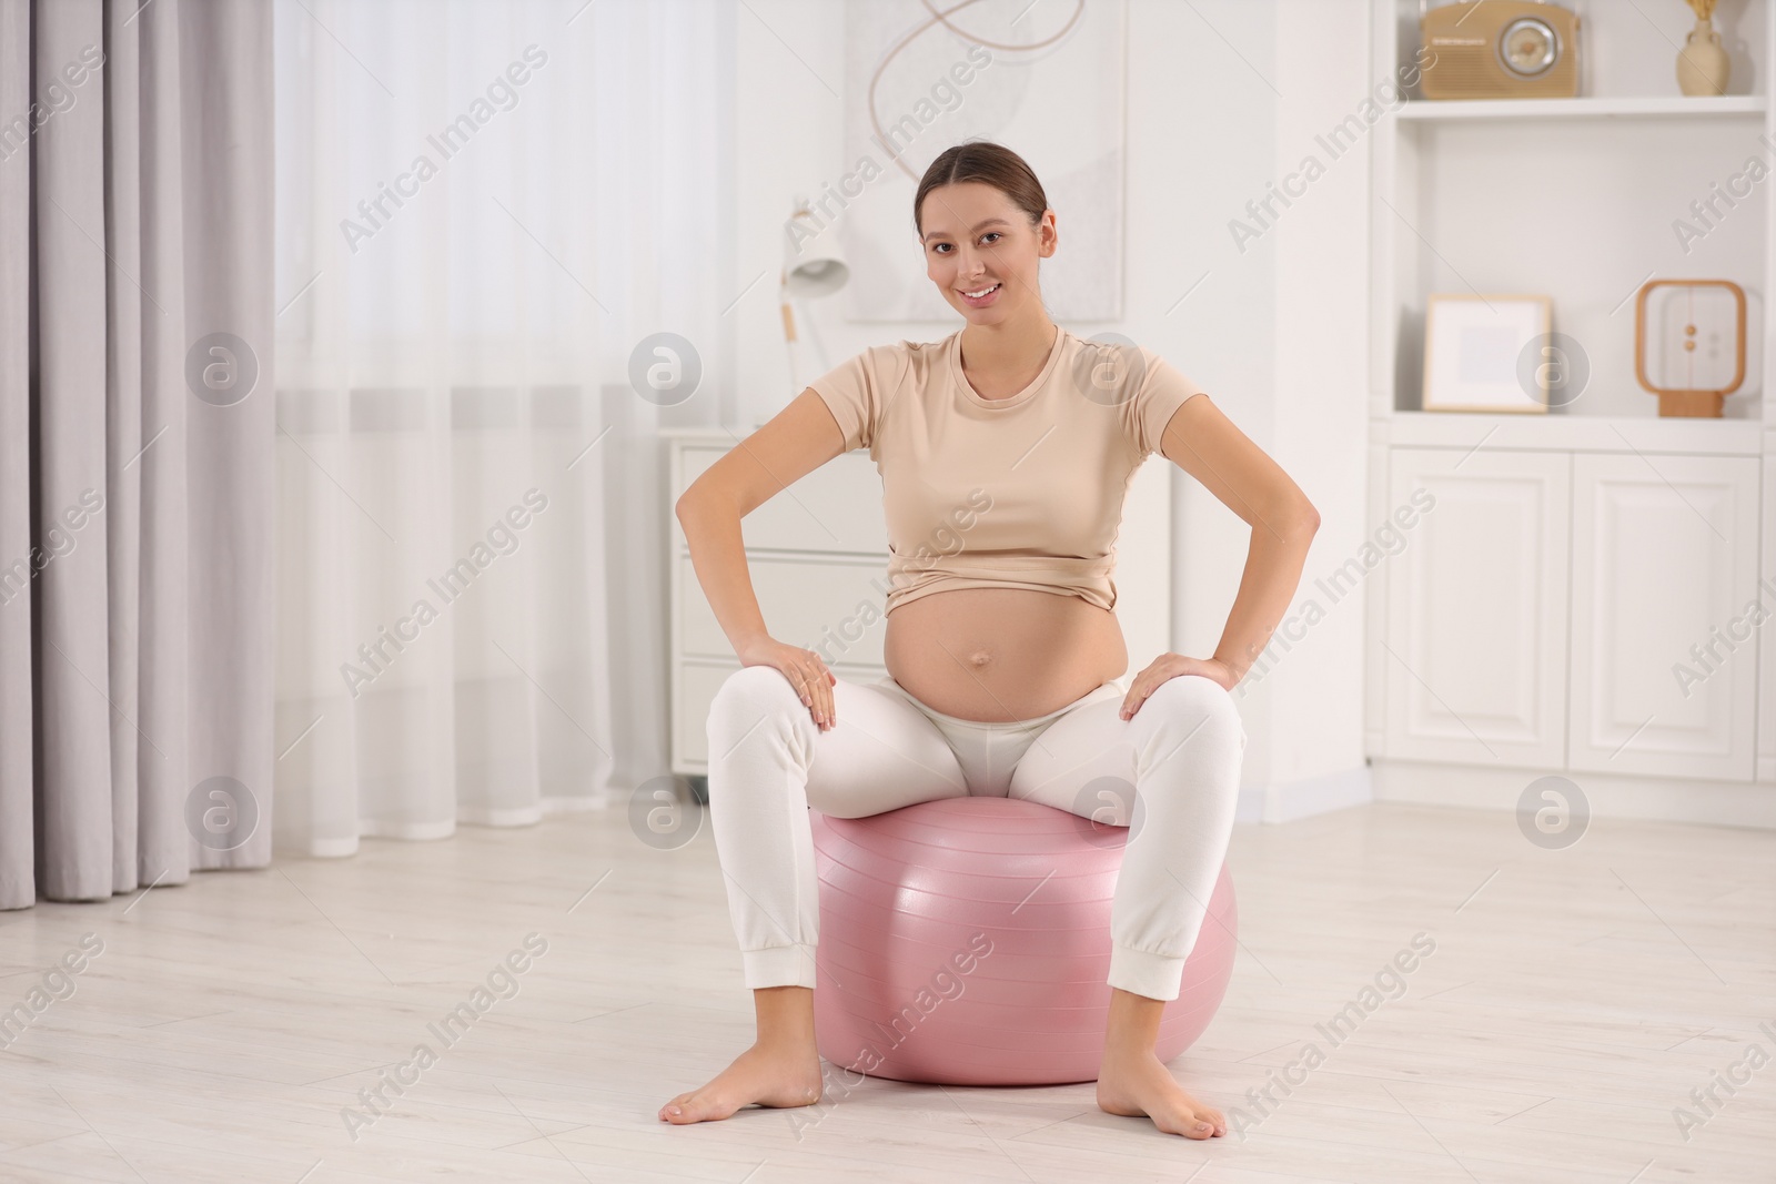
<instances>
[{"instance_id":1,"label":"smiling face of the woman with tied-back brown hair","mask_svg":"<svg viewBox=\"0 0 1776 1184\"><path fill-rule=\"evenodd\" d=\"M998 325L1043 305L1035 261L1055 254L1053 209L1030 225L1002 190L959 181L925 193L920 225L925 275L968 321Z\"/></svg>"}]
</instances>

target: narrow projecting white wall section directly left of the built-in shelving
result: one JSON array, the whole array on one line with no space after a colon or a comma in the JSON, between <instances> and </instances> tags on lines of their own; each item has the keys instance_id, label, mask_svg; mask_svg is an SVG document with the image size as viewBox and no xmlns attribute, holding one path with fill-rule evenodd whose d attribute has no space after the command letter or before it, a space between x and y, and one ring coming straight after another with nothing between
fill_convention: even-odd
<instances>
[{"instance_id":1,"label":"narrow projecting white wall section directly left of the built-in shelving","mask_svg":"<svg viewBox=\"0 0 1776 1184\"><path fill-rule=\"evenodd\" d=\"M1323 620L1302 635L1247 699L1265 705L1263 785L1270 817L1369 797L1362 753L1364 591L1341 600L1316 580L1357 554L1376 525L1364 522L1368 469L1369 146L1364 108L1375 98L1368 11L1362 0L1279 0L1275 181L1291 174L1305 192L1280 208L1277 238L1275 433L1266 451L1320 509L1321 525L1302 572L1293 611L1314 600ZM1398 91L1384 91L1398 103ZM1355 142L1332 140L1348 115L1366 128ZM1330 146L1330 147L1328 147ZM1334 156L1334 149L1339 151ZM1304 162L1325 172L1307 181ZM1368 577L1380 579L1380 568ZM1305 616L1302 618L1305 621ZM1256 740L1256 735L1254 735Z\"/></svg>"}]
</instances>

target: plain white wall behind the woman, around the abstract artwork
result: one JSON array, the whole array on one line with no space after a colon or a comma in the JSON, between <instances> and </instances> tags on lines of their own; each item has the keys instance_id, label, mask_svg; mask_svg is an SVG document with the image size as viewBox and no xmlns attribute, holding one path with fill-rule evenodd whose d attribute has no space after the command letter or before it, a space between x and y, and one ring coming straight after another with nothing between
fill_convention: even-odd
<instances>
[{"instance_id":1,"label":"plain white wall behind the woman, around the abstract artwork","mask_svg":"<svg viewBox=\"0 0 1776 1184\"><path fill-rule=\"evenodd\" d=\"M1126 316L1067 328L1114 330L1158 350L1307 490L1325 525L1305 595L1366 533L1368 154L1337 160L1245 250L1229 220L1247 217L1247 202L1300 163L1334 121L1328 112L1355 108L1368 87L1364 5L1130 0L1128 25ZM844 172L844 5L748 0L735 28L735 273L742 286L767 273L730 312L739 408L751 424L792 398L776 305L790 195ZM916 249L911 236L908 249ZM936 341L959 325L852 325L829 305L808 314L833 362L883 341ZM1183 474L1174 499L1174 644L1208 657L1249 531ZM1362 605L1341 602L1241 696L1250 790L1360 776L1360 628ZM1154 655L1130 657L1138 669Z\"/></svg>"}]
</instances>

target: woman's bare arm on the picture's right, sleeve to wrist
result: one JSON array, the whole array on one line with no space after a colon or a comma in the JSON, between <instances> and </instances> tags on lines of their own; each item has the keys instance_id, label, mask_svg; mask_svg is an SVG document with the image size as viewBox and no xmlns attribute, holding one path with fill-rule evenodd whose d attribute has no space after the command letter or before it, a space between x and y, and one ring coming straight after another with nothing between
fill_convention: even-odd
<instances>
[{"instance_id":1,"label":"woman's bare arm on the picture's right, sleeve to wrist","mask_svg":"<svg viewBox=\"0 0 1776 1184\"><path fill-rule=\"evenodd\" d=\"M1240 593L1209 660L1222 667L1217 682L1233 691L1295 598L1320 511L1206 394L1172 412L1160 451L1252 527Z\"/></svg>"}]
</instances>

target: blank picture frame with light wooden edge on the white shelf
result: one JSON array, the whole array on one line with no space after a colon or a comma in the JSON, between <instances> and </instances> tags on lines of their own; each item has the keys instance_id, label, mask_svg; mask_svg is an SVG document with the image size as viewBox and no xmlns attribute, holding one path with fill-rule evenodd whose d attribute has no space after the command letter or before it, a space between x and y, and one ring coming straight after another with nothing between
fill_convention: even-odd
<instances>
[{"instance_id":1,"label":"blank picture frame with light wooden edge on the white shelf","mask_svg":"<svg viewBox=\"0 0 1776 1184\"><path fill-rule=\"evenodd\" d=\"M1547 341L1554 302L1533 293L1431 293L1424 305L1426 412L1547 414Z\"/></svg>"}]
</instances>

